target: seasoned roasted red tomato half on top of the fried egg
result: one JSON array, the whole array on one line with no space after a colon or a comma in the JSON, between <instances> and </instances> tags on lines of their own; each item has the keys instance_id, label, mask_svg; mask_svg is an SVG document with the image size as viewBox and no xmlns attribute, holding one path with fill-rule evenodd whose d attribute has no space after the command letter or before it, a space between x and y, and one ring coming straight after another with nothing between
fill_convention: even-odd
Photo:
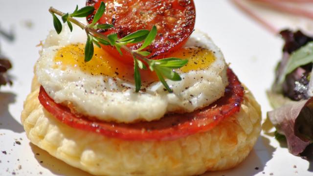
<instances>
[{"instance_id":1,"label":"seasoned roasted red tomato half on top of the fried egg","mask_svg":"<svg viewBox=\"0 0 313 176\"><path fill-rule=\"evenodd\" d=\"M106 3L106 12L98 23L114 25L110 30L100 30L106 35L117 33L120 39L139 29L151 30L156 25L156 40L146 48L151 52L151 58L163 58L177 50L194 30L196 11L193 0L87 0L86 4L98 9L101 1ZM89 23L94 14L87 17ZM141 44L128 46L138 49ZM133 63L129 53L123 51L121 56L112 46L102 47L123 62Z\"/></svg>"}]
</instances>

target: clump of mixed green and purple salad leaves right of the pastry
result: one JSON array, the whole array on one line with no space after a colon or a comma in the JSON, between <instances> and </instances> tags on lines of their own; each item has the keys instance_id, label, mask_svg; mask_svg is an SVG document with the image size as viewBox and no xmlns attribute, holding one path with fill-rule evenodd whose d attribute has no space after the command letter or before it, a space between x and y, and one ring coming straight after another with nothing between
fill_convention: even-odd
<instances>
[{"instance_id":1,"label":"clump of mixed green and purple salad leaves right of the pastry","mask_svg":"<svg viewBox=\"0 0 313 176\"><path fill-rule=\"evenodd\" d=\"M275 110L268 118L285 136L291 154L313 157L313 37L301 31L280 32L283 58L276 67L268 99Z\"/></svg>"}]
</instances>

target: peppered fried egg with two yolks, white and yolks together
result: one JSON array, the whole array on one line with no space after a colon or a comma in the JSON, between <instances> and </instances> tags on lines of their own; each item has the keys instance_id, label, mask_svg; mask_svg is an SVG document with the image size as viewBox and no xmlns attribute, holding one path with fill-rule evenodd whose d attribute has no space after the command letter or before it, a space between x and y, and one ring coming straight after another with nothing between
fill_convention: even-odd
<instances>
[{"instance_id":1,"label":"peppered fried egg with two yolks, white and yolks together","mask_svg":"<svg viewBox=\"0 0 313 176\"><path fill-rule=\"evenodd\" d=\"M181 81L166 80L169 93L153 72L143 70L142 89L136 93L134 66L114 59L95 46L91 61L84 62L86 33L64 26L51 31L35 75L48 95L74 113L103 121L152 121L167 113L185 113L210 105L224 95L227 65L220 49L199 30L169 57L188 59L177 70Z\"/></svg>"}]
</instances>

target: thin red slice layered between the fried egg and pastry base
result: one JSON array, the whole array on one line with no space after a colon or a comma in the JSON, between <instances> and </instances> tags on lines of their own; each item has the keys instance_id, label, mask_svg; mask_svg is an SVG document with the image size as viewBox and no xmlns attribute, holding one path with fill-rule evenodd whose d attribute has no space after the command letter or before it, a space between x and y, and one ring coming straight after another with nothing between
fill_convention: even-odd
<instances>
[{"instance_id":1,"label":"thin red slice layered between the fried egg and pastry base","mask_svg":"<svg viewBox=\"0 0 313 176\"><path fill-rule=\"evenodd\" d=\"M56 104L43 87L40 88L39 101L45 110L72 128L123 140L175 140L197 132L209 131L224 118L240 110L244 88L230 69L227 70L227 75L229 86L225 90L224 97L215 103L201 110L185 114L170 114L152 122L124 124L91 121L86 117L77 117L67 107Z\"/></svg>"}]
</instances>

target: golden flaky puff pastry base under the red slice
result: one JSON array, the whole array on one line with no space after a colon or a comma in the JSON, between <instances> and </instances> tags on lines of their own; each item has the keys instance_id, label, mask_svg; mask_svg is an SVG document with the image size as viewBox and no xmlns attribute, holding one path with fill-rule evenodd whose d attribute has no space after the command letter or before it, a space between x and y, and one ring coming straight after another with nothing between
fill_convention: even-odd
<instances>
[{"instance_id":1,"label":"golden flaky puff pastry base under the red slice","mask_svg":"<svg viewBox=\"0 0 313 176\"><path fill-rule=\"evenodd\" d=\"M97 176L191 176L233 168L246 158L261 131L260 106L248 90L240 112L208 132L175 141L124 141L68 127L43 108L38 93L34 79L22 111L27 137Z\"/></svg>"}]
</instances>

